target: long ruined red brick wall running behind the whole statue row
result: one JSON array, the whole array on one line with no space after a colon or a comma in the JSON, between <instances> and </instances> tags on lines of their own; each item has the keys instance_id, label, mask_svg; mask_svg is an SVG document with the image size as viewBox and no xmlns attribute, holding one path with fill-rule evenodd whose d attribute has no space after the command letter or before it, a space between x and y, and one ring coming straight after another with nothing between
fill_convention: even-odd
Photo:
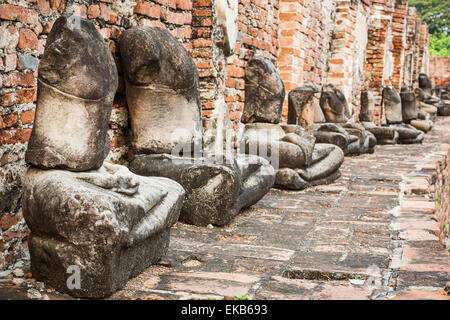
<instances>
[{"instance_id":1,"label":"long ruined red brick wall running behind the whole statue row","mask_svg":"<svg viewBox=\"0 0 450 320\"><path fill-rule=\"evenodd\" d=\"M205 123L214 121L216 102L223 98L235 130L245 98L245 65L255 54L276 63L287 92L311 83L343 86L356 119L365 84L380 97L386 52L392 51L399 62L394 63L393 81L407 78L402 61L408 52L414 53L414 78L426 65L426 25L416 19L415 10L408 9L404 17L403 0L239 0L240 35L229 56L220 49L223 39L215 24L214 1L6 0L0 4L0 270L27 257L20 189L34 118L37 66L52 23L64 12L92 20L115 56L119 87L107 160L122 164L132 154L117 39L132 25L163 27L180 39L197 63ZM361 45L364 32L358 33L357 27L358 23L365 27L366 20L367 47ZM380 110L376 112L379 117Z\"/></svg>"}]
</instances>

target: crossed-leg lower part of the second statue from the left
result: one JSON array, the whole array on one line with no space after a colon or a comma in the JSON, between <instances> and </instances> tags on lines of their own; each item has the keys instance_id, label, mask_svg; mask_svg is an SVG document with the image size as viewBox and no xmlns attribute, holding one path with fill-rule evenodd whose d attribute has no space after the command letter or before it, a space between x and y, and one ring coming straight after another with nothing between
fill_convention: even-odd
<instances>
[{"instance_id":1,"label":"crossed-leg lower part of the second statue from the left","mask_svg":"<svg viewBox=\"0 0 450 320\"><path fill-rule=\"evenodd\" d=\"M180 221L220 226L261 199L272 187L275 171L260 157L218 157L139 155L130 169L139 175L173 179L185 188Z\"/></svg>"}]
</instances>

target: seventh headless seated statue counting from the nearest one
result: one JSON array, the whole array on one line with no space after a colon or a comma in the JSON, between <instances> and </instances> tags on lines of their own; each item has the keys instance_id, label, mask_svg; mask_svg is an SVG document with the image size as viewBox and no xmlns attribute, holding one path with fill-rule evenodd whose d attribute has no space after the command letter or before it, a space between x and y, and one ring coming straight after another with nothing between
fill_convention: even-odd
<instances>
[{"instance_id":1,"label":"seventh headless seated statue counting from the nearest one","mask_svg":"<svg viewBox=\"0 0 450 320\"><path fill-rule=\"evenodd\" d=\"M393 86L384 87L382 96L386 123L398 132L397 143L422 143L424 133L410 124L403 123L402 101L395 88Z\"/></svg>"}]
</instances>

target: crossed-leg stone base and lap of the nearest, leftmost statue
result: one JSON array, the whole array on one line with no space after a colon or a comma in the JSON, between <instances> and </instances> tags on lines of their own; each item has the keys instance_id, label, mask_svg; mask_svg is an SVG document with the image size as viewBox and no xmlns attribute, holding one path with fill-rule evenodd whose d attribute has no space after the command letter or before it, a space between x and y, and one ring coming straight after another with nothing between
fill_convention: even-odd
<instances>
[{"instance_id":1,"label":"crossed-leg stone base and lap of the nearest, leftmost statue","mask_svg":"<svg viewBox=\"0 0 450 320\"><path fill-rule=\"evenodd\" d=\"M30 168L24 185L33 276L89 298L111 295L165 254L184 195L175 181L107 163L82 173ZM67 286L70 266L79 289Z\"/></svg>"}]
</instances>

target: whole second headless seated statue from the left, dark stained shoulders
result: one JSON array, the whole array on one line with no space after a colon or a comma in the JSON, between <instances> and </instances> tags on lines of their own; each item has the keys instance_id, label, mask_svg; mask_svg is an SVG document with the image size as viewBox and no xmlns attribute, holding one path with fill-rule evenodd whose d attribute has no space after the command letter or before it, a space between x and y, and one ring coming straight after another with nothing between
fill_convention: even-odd
<instances>
[{"instance_id":1,"label":"whole second headless seated statue from the left, dark stained shoulders","mask_svg":"<svg viewBox=\"0 0 450 320\"><path fill-rule=\"evenodd\" d=\"M204 152L198 71L176 38L134 27L123 32L120 54L136 154L130 170L184 187L180 221L225 225L270 190L275 171L265 159Z\"/></svg>"}]
</instances>

